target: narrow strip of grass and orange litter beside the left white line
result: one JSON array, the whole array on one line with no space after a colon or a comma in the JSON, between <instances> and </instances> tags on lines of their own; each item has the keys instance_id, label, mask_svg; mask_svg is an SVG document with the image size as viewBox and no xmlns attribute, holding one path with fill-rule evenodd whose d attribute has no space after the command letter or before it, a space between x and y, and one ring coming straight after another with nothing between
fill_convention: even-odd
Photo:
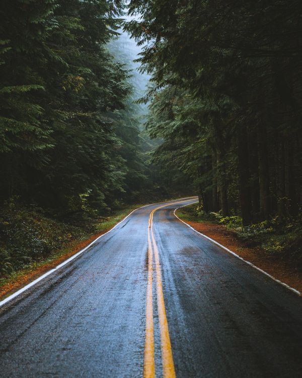
<instances>
[{"instance_id":1,"label":"narrow strip of grass and orange litter beside the left white line","mask_svg":"<svg viewBox=\"0 0 302 378\"><path fill-rule=\"evenodd\" d=\"M84 229L80 229L81 232L79 232L78 236L73 237L72 240L68 241L62 239L61 247L51 251L47 256L32 259L29 263L24 263L22 267L19 268L18 266L18 268L12 269L10 272L3 274L0 278L0 297L4 298L19 287L26 285L41 274L57 266L79 250L83 249L86 245L90 244L98 236L110 230L134 209L141 206L143 206L143 204L135 204L125 207L122 210L116 210L112 215L94 223L93 232L87 232ZM43 219L43 221L43 226L45 228L45 220Z\"/></svg>"}]
</instances>

